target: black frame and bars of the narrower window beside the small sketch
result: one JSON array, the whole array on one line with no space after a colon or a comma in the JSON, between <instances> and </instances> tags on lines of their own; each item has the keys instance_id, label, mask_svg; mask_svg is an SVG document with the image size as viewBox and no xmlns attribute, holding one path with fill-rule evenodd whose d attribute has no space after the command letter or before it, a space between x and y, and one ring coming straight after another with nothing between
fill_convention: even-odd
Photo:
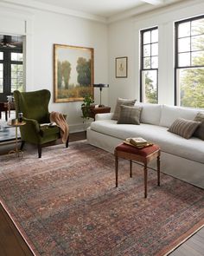
<instances>
[{"instance_id":1,"label":"black frame and bars of the narrower window beside the small sketch","mask_svg":"<svg viewBox=\"0 0 204 256\"><path fill-rule=\"evenodd\" d=\"M152 27L152 28L149 28L149 29L145 29L145 30L140 30L140 102L143 102L143 81L142 81L142 77L143 77L143 71L152 71L152 70L156 70L156 100L157 100L157 103L158 103L158 67L157 68L151 68L151 61L150 61L150 69L143 69L143 59L145 58L145 56L143 56L143 46L145 44L150 44L150 60L151 60L151 39L150 39L150 43L143 43L143 34L145 32L148 32L148 31L152 31L152 30L158 30L158 26L155 26L155 27ZM158 41L157 42L154 42L154 43L159 43ZM154 56L153 56L154 57ZM157 54L157 57L158 57L158 54Z\"/></svg>"}]
</instances>

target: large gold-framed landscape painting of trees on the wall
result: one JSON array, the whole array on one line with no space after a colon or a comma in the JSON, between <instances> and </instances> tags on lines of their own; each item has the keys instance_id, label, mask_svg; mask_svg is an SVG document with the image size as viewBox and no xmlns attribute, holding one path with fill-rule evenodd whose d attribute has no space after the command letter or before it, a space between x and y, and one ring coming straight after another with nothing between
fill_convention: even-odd
<instances>
[{"instance_id":1,"label":"large gold-framed landscape painting of trees on the wall","mask_svg":"<svg viewBox=\"0 0 204 256\"><path fill-rule=\"evenodd\" d=\"M54 102L93 98L93 49L54 44Z\"/></svg>"}]
</instances>

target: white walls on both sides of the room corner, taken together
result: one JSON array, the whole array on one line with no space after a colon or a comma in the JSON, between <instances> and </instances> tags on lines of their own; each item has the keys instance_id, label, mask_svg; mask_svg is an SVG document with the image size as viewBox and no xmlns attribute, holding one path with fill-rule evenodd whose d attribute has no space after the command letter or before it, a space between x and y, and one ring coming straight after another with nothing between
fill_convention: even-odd
<instances>
[{"instance_id":1,"label":"white walls on both sides of the room corner, taken together","mask_svg":"<svg viewBox=\"0 0 204 256\"><path fill-rule=\"evenodd\" d=\"M54 103L53 44L94 48L94 82L109 83L102 103L115 106L116 99L139 100L139 30L159 27L159 103L174 103L174 22L202 14L201 0L149 12L121 22L98 23L54 12L17 9L0 3L0 33L26 36L27 91L49 89L49 110L67 114L71 132L83 128L81 102ZM115 78L115 58L128 56L128 77ZM99 103L99 89L94 89Z\"/></svg>"}]
</instances>

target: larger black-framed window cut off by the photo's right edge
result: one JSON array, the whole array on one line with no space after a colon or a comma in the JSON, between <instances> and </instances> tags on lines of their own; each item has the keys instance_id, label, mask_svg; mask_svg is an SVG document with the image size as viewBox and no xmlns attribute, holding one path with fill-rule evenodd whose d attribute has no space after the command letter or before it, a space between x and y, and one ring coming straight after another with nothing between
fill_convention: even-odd
<instances>
[{"instance_id":1,"label":"larger black-framed window cut off by the photo's right edge","mask_svg":"<svg viewBox=\"0 0 204 256\"><path fill-rule=\"evenodd\" d=\"M204 16L175 23L175 105L204 108Z\"/></svg>"}]
</instances>

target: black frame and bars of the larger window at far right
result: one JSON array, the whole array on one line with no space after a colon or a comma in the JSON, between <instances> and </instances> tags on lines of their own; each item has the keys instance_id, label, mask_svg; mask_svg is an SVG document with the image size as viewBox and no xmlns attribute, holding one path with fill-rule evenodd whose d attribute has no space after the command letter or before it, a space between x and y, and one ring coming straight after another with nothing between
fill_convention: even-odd
<instances>
[{"instance_id":1,"label":"black frame and bars of the larger window at far right","mask_svg":"<svg viewBox=\"0 0 204 256\"><path fill-rule=\"evenodd\" d=\"M194 68L204 68L204 64L203 65L191 65L191 61L192 61L192 52L196 52L196 51L200 51L200 50L191 50L192 49L192 35L191 35L191 30L190 30L190 36L183 36L183 37L179 37L178 36L178 27L180 24L182 23L188 23L190 22L190 27L191 27L191 22L194 20L199 20L204 18L204 15L201 16L194 16L188 19L184 19L182 21L178 21L175 22L175 106L178 105L178 84L177 84L177 69L194 69ZM203 34L199 34L203 35ZM196 36L196 35L193 35ZM198 35L197 35L198 36ZM189 66L182 66L179 67L179 52L178 52L178 39L179 38L187 38L190 37L190 51L186 51L183 53L190 53L190 65Z\"/></svg>"}]
</instances>

